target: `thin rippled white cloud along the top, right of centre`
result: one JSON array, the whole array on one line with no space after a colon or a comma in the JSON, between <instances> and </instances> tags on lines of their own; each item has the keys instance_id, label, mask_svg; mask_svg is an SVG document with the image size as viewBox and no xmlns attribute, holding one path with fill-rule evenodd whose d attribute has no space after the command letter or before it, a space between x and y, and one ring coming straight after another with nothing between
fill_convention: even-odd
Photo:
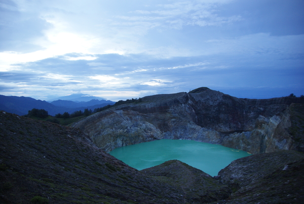
<instances>
[{"instance_id":1,"label":"thin rippled white cloud along the top, right of centre","mask_svg":"<svg viewBox=\"0 0 304 204\"><path fill-rule=\"evenodd\" d=\"M221 4L226 1L220 1ZM240 15L221 17L217 7L219 2L177 2L173 4L158 5L158 10L136 10L132 13L140 16L117 16L127 21L157 21L158 27L181 29L186 25L219 26L242 20Z\"/></svg>"}]
</instances>

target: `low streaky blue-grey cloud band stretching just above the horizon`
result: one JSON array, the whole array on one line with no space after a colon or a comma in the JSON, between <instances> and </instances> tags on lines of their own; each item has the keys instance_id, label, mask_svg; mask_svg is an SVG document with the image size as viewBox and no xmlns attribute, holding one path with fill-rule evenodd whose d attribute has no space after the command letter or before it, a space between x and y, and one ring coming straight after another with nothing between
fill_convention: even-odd
<instances>
[{"instance_id":1,"label":"low streaky blue-grey cloud band stretching just above the horizon","mask_svg":"<svg viewBox=\"0 0 304 204\"><path fill-rule=\"evenodd\" d=\"M282 37L275 38L282 41ZM222 41L208 43L227 44ZM229 47L231 50L234 49ZM238 45L235 49L237 48ZM144 54L125 56L103 54L92 55L91 57L94 58L92 60L68 60L66 56L81 56L77 53L70 53L37 62L19 64L20 69L24 67L27 72L3 72L0 74L0 79L4 83L16 84L16 86L22 82L27 86L23 90L27 91L31 87L40 86L53 93L55 92L53 88L60 87L60 91L66 94L70 94L70 91L82 90L91 95L92 92L98 93L99 96L101 96L100 93L108 93L107 91L125 90L128 90L129 93L136 91L172 93L188 91L188 89L200 86L218 90L227 89L227 87L231 89L278 87L282 81L303 89L301 77L304 73L299 72L302 59L282 59L286 61L285 63L282 60L273 61L274 57L281 57L280 52L265 51L261 54L247 50L248 53L244 54L242 53L244 50L246 51L243 49L233 55L227 50L206 56L171 58L156 58ZM297 52L297 50L292 52ZM250 58L247 57L248 54L251 55ZM298 63L293 63L293 61L298 61ZM293 66L290 66L291 62ZM103 67L106 68L103 69ZM113 97L113 94L111 96ZM136 96L144 95L136 94ZM102 97L106 97L106 95L102 95Z\"/></svg>"}]
</instances>

